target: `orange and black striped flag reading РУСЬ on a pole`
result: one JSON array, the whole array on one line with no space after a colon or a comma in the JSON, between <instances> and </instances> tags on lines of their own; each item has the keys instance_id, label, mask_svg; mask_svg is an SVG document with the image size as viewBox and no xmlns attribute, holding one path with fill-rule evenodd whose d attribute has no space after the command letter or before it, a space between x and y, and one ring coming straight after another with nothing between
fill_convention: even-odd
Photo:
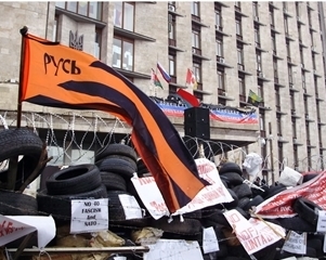
<instances>
[{"instance_id":1,"label":"orange and black striped flag reading \u0420\u0423\u0421\u042c on a pole","mask_svg":"<svg viewBox=\"0 0 326 260\"><path fill-rule=\"evenodd\" d=\"M171 121L127 78L81 51L29 34L23 37L19 102L103 110L128 122L135 150L171 212L208 184Z\"/></svg>"}]
</instances>

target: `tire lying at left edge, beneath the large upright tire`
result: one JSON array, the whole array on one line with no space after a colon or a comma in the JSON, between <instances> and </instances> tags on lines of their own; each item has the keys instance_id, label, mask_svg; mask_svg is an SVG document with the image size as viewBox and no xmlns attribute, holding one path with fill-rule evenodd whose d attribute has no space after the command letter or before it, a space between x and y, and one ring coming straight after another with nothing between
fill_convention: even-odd
<instances>
[{"instance_id":1,"label":"tire lying at left edge, beneath the large upright tire","mask_svg":"<svg viewBox=\"0 0 326 260\"><path fill-rule=\"evenodd\" d=\"M38 216L38 203L27 194L0 191L0 213L3 216Z\"/></svg>"}]
</instances>

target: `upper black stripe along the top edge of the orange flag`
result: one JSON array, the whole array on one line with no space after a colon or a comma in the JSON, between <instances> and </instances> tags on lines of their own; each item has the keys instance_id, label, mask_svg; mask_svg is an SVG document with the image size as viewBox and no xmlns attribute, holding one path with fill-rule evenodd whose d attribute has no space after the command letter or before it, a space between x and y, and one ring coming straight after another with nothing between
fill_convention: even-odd
<instances>
[{"instance_id":1,"label":"upper black stripe along the top edge of the orange flag","mask_svg":"<svg viewBox=\"0 0 326 260\"><path fill-rule=\"evenodd\" d=\"M119 74L112 67L107 66L101 62L93 62L90 66L101 68L118 78L120 78L141 100L143 104L147 107L153 118L155 118L158 127L161 129L161 132L167 140L168 145L171 151L179 157L179 159L192 171L195 176L199 177L197 171L196 162L183 143L179 132L170 121L170 119L164 114L160 107L155 104L143 91L141 91L136 86L130 82L123 75ZM200 178L199 178L200 179ZM207 182L204 182L207 183Z\"/></svg>"}]
</instances>

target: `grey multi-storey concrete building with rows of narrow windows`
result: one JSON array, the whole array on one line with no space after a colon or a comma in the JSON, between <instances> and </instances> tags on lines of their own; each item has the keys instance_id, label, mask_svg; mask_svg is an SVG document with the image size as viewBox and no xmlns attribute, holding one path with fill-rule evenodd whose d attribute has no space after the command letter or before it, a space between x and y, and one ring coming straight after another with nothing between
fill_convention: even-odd
<instances>
[{"instance_id":1,"label":"grey multi-storey concrete building with rows of narrow windows","mask_svg":"<svg viewBox=\"0 0 326 260\"><path fill-rule=\"evenodd\" d=\"M259 126L214 121L211 139L261 154L268 179L277 179L284 166L324 169L325 11L324 2L1 2L0 110L14 120L18 29L26 25L30 34L99 57L148 95L185 88L187 68L198 82L187 90L204 103L245 108L252 90L263 99ZM164 90L151 84L157 62L171 76L169 84L161 80ZM23 109L66 113L31 104ZM101 116L113 123L114 117ZM83 117L93 120L93 113ZM183 135L183 119L171 120ZM76 122L76 131L84 129Z\"/></svg>"}]
</instances>

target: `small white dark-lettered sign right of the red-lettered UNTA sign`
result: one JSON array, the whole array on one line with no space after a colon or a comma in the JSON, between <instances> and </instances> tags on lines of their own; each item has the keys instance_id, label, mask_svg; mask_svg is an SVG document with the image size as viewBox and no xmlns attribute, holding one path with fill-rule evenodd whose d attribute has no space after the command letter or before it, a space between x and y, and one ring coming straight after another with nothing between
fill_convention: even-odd
<instances>
[{"instance_id":1,"label":"small white dark-lettered sign right of the red-lettered UNTA sign","mask_svg":"<svg viewBox=\"0 0 326 260\"><path fill-rule=\"evenodd\" d=\"M295 231L290 231L288 234L288 238L284 242L282 249L292 253L305 255L307 233L302 233L300 235Z\"/></svg>"}]
</instances>

